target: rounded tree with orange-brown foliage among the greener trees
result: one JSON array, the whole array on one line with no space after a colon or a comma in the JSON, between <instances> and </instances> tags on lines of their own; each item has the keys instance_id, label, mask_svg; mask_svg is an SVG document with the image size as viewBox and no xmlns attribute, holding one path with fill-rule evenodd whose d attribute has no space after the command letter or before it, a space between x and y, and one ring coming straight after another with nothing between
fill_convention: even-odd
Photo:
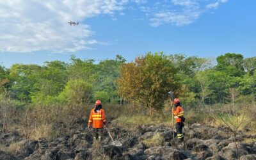
<instances>
[{"instance_id":1,"label":"rounded tree with orange-brown foliage among the greener trees","mask_svg":"<svg viewBox=\"0 0 256 160\"><path fill-rule=\"evenodd\" d=\"M137 57L134 62L126 63L121 68L118 78L118 91L126 100L160 111L165 95L170 90L178 94L179 81L175 79L177 70L163 52L148 52Z\"/></svg>"}]
</instances>

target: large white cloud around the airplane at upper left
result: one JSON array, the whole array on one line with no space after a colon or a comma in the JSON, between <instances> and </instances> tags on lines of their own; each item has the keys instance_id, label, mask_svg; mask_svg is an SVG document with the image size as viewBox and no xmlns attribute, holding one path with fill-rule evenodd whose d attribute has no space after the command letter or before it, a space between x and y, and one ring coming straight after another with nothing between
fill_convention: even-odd
<instances>
[{"instance_id":1,"label":"large white cloud around the airplane at upper left","mask_svg":"<svg viewBox=\"0 0 256 160\"><path fill-rule=\"evenodd\" d=\"M0 1L0 51L76 52L102 44L90 39L90 26L70 26L100 14L123 10L127 0Z\"/></svg>"}]
</instances>

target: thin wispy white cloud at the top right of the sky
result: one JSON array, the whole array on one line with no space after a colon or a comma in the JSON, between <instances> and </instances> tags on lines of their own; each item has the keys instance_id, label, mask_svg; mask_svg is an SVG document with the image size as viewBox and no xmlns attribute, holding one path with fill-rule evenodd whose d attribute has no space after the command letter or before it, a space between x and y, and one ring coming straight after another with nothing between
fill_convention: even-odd
<instances>
[{"instance_id":1,"label":"thin wispy white cloud at the top right of the sky","mask_svg":"<svg viewBox=\"0 0 256 160\"><path fill-rule=\"evenodd\" d=\"M165 3L158 4L167 9L162 10L158 8L154 14L151 15L150 25L157 27L162 24L173 24L175 26L184 26L195 22L199 19L202 13L209 10L216 9L220 3L227 3L228 0L172 0ZM174 8L175 6L180 6ZM160 11L159 11L160 10ZM152 12L152 10L147 13Z\"/></svg>"}]
</instances>

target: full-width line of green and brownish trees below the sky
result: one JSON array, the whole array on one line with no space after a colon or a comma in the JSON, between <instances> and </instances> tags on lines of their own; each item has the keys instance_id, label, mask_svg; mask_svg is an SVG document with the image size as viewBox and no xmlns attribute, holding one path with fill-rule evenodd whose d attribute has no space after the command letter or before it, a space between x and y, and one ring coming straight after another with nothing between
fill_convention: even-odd
<instances>
[{"instance_id":1,"label":"full-width line of green and brownish trees below the sky","mask_svg":"<svg viewBox=\"0 0 256 160\"><path fill-rule=\"evenodd\" d=\"M230 102L230 92L240 100L255 100L256 57L227 53L215 60L148 52L134 61L116 55L113 60L46 61L44 65L0 65L0 93L17 106L24 104L126 102L161 111L167 92L182 102L204 105Z\"/></svg>"}]
</instances>

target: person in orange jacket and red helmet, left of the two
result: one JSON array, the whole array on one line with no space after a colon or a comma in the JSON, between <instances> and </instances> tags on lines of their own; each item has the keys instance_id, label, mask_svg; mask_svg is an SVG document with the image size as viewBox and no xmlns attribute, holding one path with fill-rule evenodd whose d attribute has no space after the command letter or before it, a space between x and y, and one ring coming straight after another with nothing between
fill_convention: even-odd
<instances>
[{"instance_id":1,"label":"person in orange jacket and red helmet, left of the two","mask_svg":"<svg viewBox=\"0 0 256 160\"><path fill-rule=\"evenodd\" d=\"M106 116L105 111L102 108L102 103L100 100L96 100L95 107L92 109L88 121L88 129L90 129L91 125L93 128L93 140L101 140L102 129L104 128L105 124Z\"/></svg>"}]
</instances>

